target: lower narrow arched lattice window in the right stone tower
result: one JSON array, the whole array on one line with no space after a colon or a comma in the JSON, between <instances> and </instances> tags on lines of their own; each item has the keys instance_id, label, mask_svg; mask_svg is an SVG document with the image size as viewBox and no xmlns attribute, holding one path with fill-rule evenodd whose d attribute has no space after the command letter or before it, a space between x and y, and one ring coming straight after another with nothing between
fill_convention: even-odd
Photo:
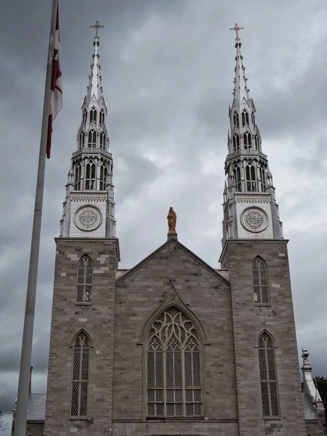
<instances>
[{"instance_id":1,"label":"lower narrow arched lattice window in the right stone tower","mask_svg":"<svg viewBox=\"0 0 327 436\"><path fill-rule=\"evenodd\" d=\"M259 368L264 417L279 416L275 348L268 333L259 339Z\"/></svg>"}]
</instances>

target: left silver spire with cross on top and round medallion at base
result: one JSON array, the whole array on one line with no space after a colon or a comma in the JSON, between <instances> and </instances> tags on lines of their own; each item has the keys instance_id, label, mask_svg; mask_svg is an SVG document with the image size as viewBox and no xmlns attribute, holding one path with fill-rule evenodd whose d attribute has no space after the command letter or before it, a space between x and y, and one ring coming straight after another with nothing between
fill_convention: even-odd
<instances>
[{"instance_id":1,"label":"left silver spire with cross on top and round medallion at base","mask_svg":"<svg viewBox=\"0 0 327 436\"><path fill-rule=\"evenodd\" d=\"M98 29L103 26L97 21L90 27L96 29L94 53L82 103L77 147L66 184L60 221L60 236L64 237L115 237L113 162L106 127L108 105L102 92L98 51Z\"/></svg>"}]
</instances>

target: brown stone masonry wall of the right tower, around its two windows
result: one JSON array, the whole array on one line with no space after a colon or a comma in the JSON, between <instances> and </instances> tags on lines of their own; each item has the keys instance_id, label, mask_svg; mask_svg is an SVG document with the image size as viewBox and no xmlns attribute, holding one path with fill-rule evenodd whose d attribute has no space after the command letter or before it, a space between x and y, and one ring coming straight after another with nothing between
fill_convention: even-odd
<instances>
[{"instance_id":1,"label":"brown stone masonry wall of the right tower, around its two windows","mask_svg":"<svg viewBox=\"0 0 327 436\"><path fill-rule=\"evenodd\" d=\"M268 266L270 306L254 306L252 261ZM305 436L287 241L228 241L240 436ZM280 418L263 419L256 337L267 329L276 341Z\"/></svg>"}]
</instances>

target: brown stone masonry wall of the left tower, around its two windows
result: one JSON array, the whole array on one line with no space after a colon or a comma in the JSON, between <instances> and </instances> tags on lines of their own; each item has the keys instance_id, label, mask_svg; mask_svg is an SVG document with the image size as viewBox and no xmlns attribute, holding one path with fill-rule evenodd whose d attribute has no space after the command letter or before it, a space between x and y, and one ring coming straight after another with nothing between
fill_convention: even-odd
<instances>
[{"instance_id":1,"label":"brown stone masonry wall of the left tower, around its two windows","mask_svg":"<svg viewBox=\"0 0 327 436\"><path fill-rule=\"evenodd\" d=\"M57 238L44 435L111 434L114 282L116 239ZM78 260L94 264L92 303L76 303ZM89 356L88 419L71 419L74 335L84 329L92 340Z\"/></svg>"}]
</instances>

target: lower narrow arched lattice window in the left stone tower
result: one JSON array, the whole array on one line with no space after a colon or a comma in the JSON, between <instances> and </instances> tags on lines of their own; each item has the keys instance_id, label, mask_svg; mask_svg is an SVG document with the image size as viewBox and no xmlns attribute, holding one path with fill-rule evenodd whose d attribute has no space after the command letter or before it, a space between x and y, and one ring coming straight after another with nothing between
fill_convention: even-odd
<instances>
[{"instance_id":1,"label":"lower narrow arched lattice window in the left stone tower","mask_svg":"<svg viewBox=\"0 0 327 436\"><path fill-rule=\"evenodd\" d=\"M73 374L71 416L87 416L89 340L84 332L79 333L73 347Z\"/></svg>"}]
</instances>

